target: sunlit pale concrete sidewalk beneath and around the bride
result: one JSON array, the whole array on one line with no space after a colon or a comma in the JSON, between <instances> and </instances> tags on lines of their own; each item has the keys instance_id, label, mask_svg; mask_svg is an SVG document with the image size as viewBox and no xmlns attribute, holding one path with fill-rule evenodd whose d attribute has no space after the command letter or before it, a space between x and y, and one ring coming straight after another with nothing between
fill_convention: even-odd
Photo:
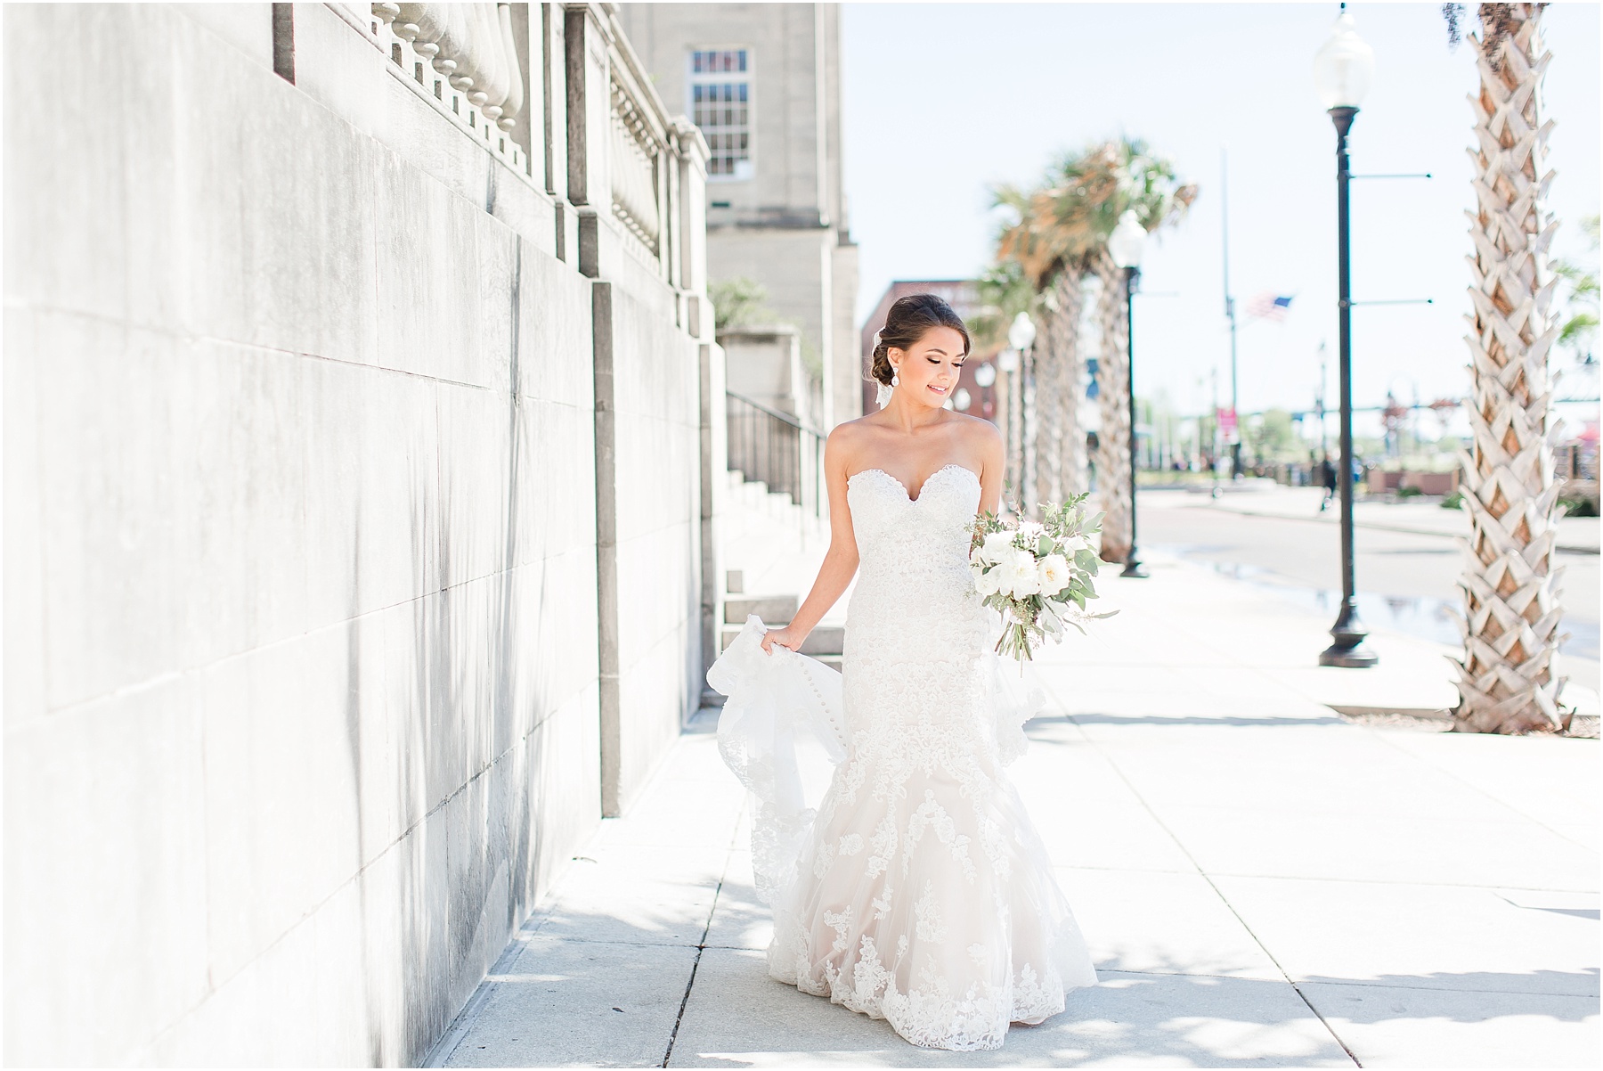
<instances>
[{"instance_id":1,"label":"sunlit pale concrete sidewalk beneath and around the bride","mask_svg":"<svg viewBox=\"0 0 1603 1071\"><path fill-rule=\"evenodd\" d=\"M434 1061L1595 1066L1598 742L1351 725L1321 617L1153 572L1104 577L1122 612L1040 661L1013 766L1103 980L1063 1015L930 1052L771 981L744 800L689 733Z\"/></svg>"}]
</instances>

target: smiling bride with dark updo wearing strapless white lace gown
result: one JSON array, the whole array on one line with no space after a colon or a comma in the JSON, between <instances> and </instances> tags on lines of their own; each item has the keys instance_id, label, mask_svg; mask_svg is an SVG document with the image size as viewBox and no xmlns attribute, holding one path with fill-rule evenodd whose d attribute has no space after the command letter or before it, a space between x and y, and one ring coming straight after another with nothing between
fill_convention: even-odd
<instances>
[{"instance_id":1,"label":"smiling bride with dark updo wearing strapless white lace gown","mask_svg":"<svg viewBox=\"0 0 1603 1071\"><path fill-rule=\"evenodd\" d=\"M1002 494L1003 447L989 422L944 409L968 348L941 298L891 306L872 366L890 399L830 433L829 553L793 620L760 640L792 657L856 576L843 755L816 814L790 831L769 973L954 1050L999 1049L1008 1023L1040 1023L1066 989L1096 983L1003 773L994 614L968 571L975 515ZM769 855L782 840L766 837Z\"/></svg>"}]
</instances>

